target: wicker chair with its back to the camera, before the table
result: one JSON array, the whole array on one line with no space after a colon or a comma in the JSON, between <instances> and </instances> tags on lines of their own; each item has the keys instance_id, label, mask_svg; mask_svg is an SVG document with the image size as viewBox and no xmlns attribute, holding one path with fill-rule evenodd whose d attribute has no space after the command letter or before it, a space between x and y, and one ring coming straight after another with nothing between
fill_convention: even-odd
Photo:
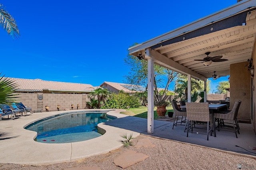
<instances>
[{"instance_id":1,"label":"wicker chair with its back to the camera, before the table","mask_svg":"<svg viewBox=\"0 0 256 170\"><path fill-rule=\"evenodd\" d=\"M210 122L212 120L212 114L209 111L209 103L186 103L187 109L187 137L188 131L193 131L193 125L195 122L207 122L207 141L209 140L209 133L212 136L212 128L210 127ZM215 132L214 132L215 133Z\"/></svg>"}]
</instances>

